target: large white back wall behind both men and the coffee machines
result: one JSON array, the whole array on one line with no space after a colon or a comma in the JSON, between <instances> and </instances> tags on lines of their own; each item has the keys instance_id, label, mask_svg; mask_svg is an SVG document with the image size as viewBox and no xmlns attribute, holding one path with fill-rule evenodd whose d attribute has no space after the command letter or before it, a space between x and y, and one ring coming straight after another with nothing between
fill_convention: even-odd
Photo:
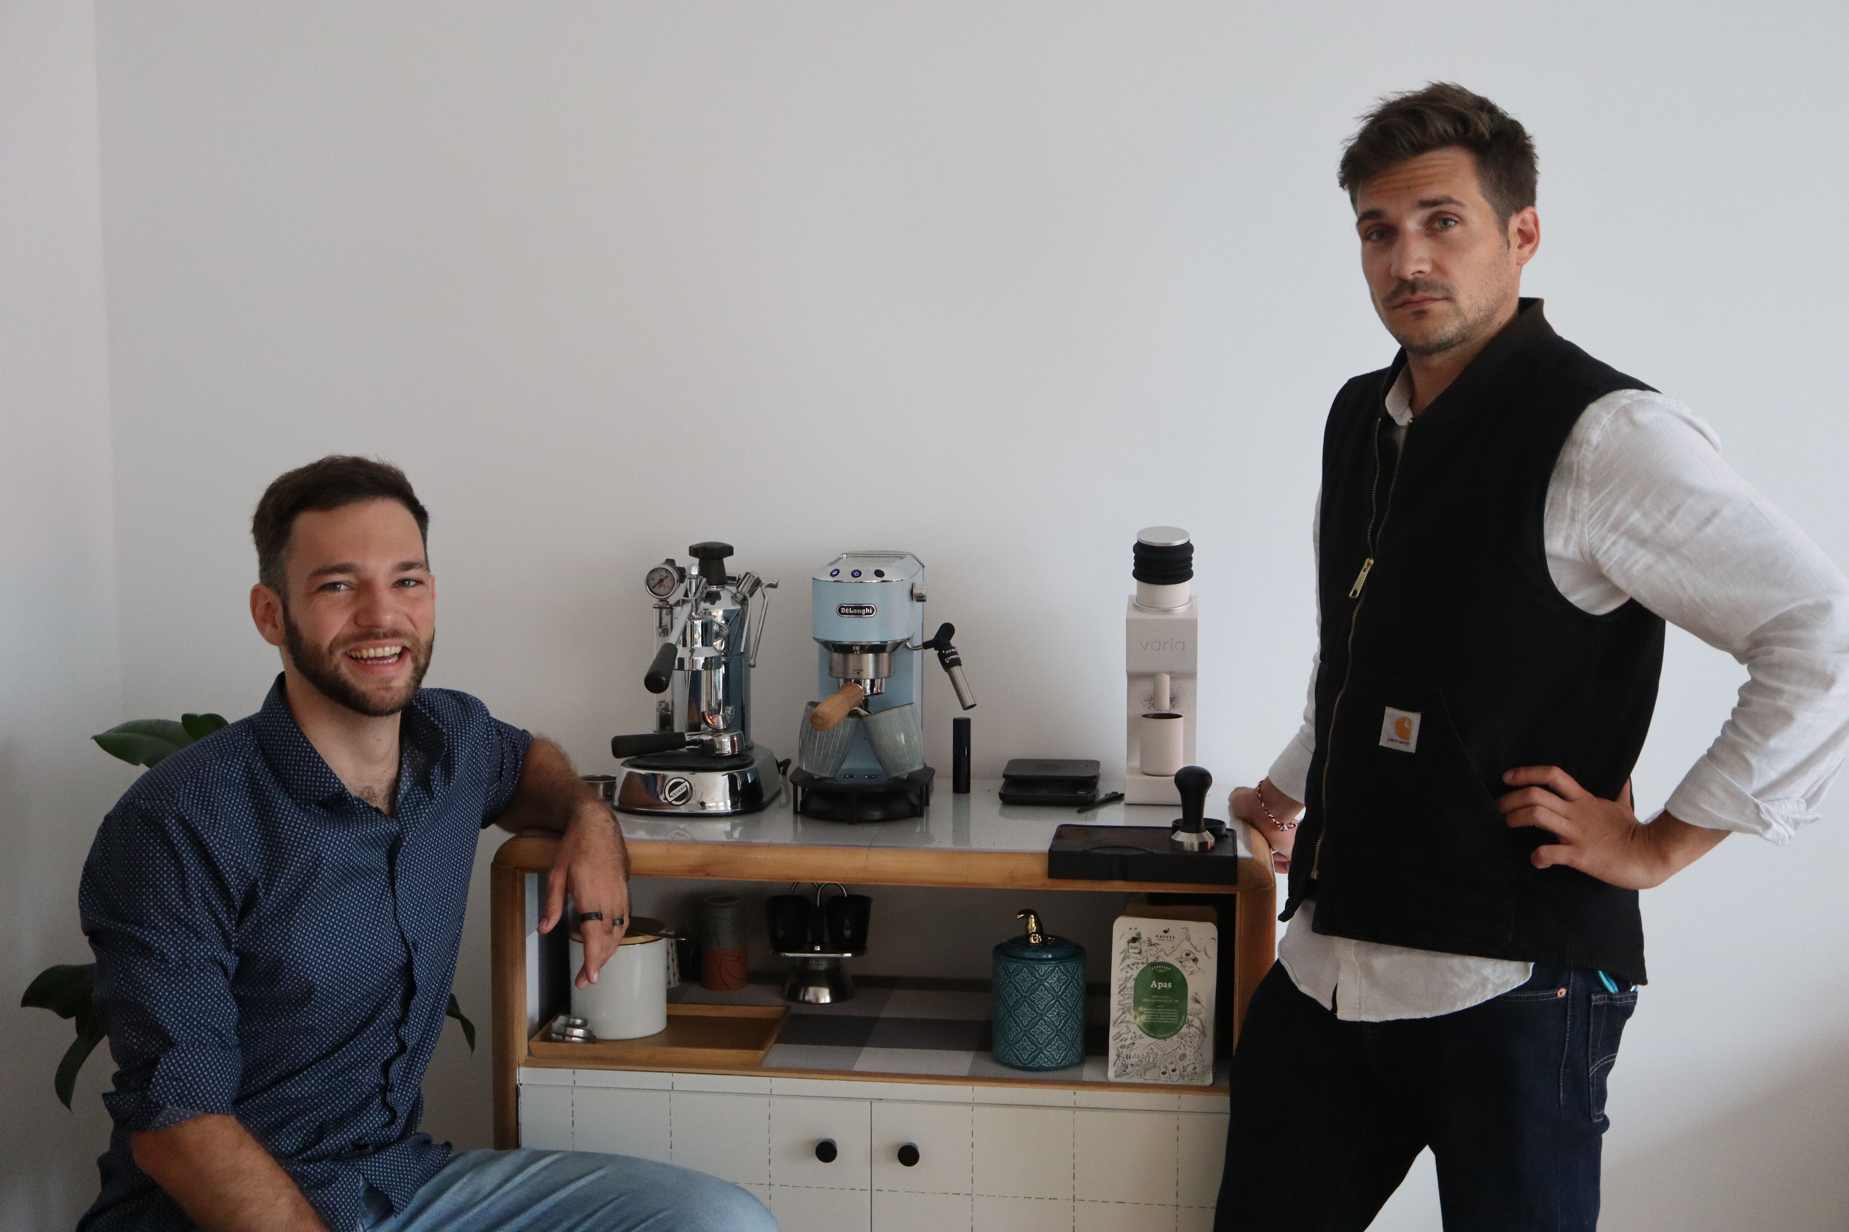
<instances>
[{"instance_id":1,"label":"large white back wall behind both men and the coffee machines","mask_svg":"<svg viewBox=\"0 0 1849 1232\"><path fill-rule=\"evenodd\" d=\"M802 580L899 545L961 630L978 774L1113 757L1128 543L1185 525L1202 759L1250 781L1313 643L1322 412L1390 355L1335 157L1376 94L1431 78L1537 133L1529 290L1561 331L1684 397L1849 560L1849 425L1825 384L1849 325L1845 20L105 2L124 713L259 702L250 508L342 449L401 462L435 508L433 683L584 768L647 719L642 571L701 537L786 580L758 678L773 744L812 678ZM1673 643L1644 802L1740 678ZM941 763L949 691L930 689ZM1729 840L1647 896L1655 981L1614 1079L1607 1226L1845 1221L1843 800L1790 850ZM33 876L68 885L74 863ZM481 927L477 909L459 992L484 1009ZM484 1075L446 1042L438 1132L481 1140ZM1381 1226L1433 1210L1422 1175Z\"/></svg>"}]
</instances>

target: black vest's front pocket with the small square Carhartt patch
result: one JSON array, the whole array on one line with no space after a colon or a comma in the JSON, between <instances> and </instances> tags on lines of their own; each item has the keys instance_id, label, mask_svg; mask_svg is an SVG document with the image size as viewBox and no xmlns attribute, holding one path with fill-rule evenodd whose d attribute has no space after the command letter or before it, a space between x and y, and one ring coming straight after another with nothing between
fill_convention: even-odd
<instances>
[{"instance_id":1,"label":"black vest's front pocket with the small square Carhartt patch","mask_svg":"<svg viewBox=\"0 0 1849 1232\"><path fill-rule=\"evenodd\" d=\"M1518 844L1437 685L1350 672L1329 735L1326 835L1318 898L1344 918L1512 935Z\"/></svg>"}]
</instances>

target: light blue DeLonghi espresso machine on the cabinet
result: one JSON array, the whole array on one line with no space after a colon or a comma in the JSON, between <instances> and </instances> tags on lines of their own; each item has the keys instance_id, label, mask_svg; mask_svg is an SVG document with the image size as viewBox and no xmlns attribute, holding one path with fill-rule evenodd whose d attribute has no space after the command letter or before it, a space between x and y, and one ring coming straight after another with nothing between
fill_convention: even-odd
<instances>
[{"instance_id":1,"label":"light blue DeLonghi espresso machine on the cabinet","mask_svg":"<svg viewBox=\"0 0 1849 1232\"><path fill-rule=\"evenodd\" d=\"M924 707L924 650L936 650L963 709L976 702L963 661L941 624L924 639L924 565L910 552L847 552L810 578L815 602L817 713L865 717L912 704ZM923 717L919 719L923 728ZM834 822L921 816L936 772L926 765L888 774L865 724L854 724L847 757L828 776L790 770L795 811Z\"/></svg>"}]
</instances>

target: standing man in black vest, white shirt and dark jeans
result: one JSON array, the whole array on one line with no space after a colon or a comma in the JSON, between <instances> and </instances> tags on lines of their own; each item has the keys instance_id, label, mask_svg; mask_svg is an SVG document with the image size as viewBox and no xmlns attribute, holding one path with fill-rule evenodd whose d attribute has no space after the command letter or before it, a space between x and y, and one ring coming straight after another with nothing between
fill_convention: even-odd
<instances>
[{"instance_id":1,"label":"standing man in black vest, white shirt and dark jeans","mask_svg":"<svg viewBox=\"0 0 1849 1232\"><path fill-rule=\"evenodd\" d=\"M1520 297L1535 181L1527 131L1457 85L1342 155L1402 349L1329 410L1309 709L1231 798L1291 888L1220 1232L1366 1228L1426 1147L1446 1232L1594 1228L1636 892L1729 831L1790 839L1842 763L1849 580L1688 408ZM1664 619L1751 678L1642 822Z\"/></svg>"}]
</instances>

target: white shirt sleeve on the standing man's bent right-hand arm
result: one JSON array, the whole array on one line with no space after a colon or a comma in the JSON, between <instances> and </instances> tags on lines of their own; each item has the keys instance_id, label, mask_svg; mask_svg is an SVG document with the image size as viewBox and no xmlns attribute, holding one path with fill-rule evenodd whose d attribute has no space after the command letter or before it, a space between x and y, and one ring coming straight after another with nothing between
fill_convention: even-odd
<instances>
[{"instance_id":1,"label":"white shirt sleeve on the standing man's bent right-hand arm","mask_svg":"<svg viewBox=\"0 0 1849 1232\"><path fill-rule=\"evenodd\" d=\"M1610 395L1586 425L1585 556L1627 595L1747 669L1720 735L1664 811L1786 842L1849 744L1849 578L1659 393Z\"/></svg>"}]
</instances>

